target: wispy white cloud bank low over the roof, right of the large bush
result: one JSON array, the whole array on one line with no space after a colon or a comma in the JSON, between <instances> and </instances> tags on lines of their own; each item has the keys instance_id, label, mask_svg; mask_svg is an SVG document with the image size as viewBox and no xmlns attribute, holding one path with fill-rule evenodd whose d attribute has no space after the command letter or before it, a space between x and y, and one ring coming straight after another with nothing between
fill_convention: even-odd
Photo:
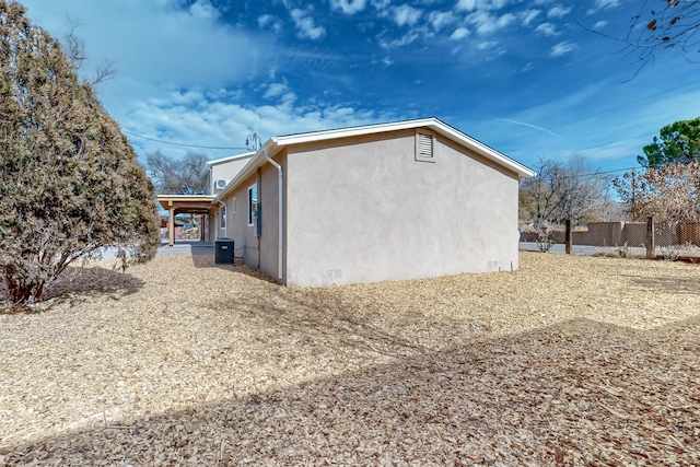
<instances>
[{"instance_id":1,"label":"wispy white cloud bank low over the roof, right of the large bush","mask_svg":"<svg viewBox=\"0 0 700 467\"><path fill-rule=\"evenodd\" d=\"M279 91L282 87L276 89ZM289 87L284 91L291 92ZM182 156L188 151L197 151L210 159L217 159L244 152L245 138L253 132L258 133L265 142L268 138L279 135L397 119L396 115L377 114L347 103L295 103L285 98L287 94L282 93L277 103L253 106L229 102L221 96L212 96L201 91L172 91L163 98L133 103L127 114L124 129L164 141L241 148L237 150L183 148L129 136L129 140L141 156L160 149L175 156Z\"/></svg>"}]
</instances>

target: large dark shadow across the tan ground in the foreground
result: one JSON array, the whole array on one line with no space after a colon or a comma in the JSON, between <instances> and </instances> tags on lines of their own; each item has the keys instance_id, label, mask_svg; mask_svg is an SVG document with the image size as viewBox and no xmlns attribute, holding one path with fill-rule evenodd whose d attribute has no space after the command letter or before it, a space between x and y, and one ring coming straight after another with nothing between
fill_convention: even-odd
<instances>
[{"instance_id":1,"label":"large dark shadow across the tan ground in the foreground","mask_svg":"<svg viewBox=\"0 0 700 467\"><path fill-rule=\"evenodd\" d=\"M8 465L698 465L699 336L697 318L648 332L575 319L5 445L0 458Z\"/></svg>"}]
</instances>

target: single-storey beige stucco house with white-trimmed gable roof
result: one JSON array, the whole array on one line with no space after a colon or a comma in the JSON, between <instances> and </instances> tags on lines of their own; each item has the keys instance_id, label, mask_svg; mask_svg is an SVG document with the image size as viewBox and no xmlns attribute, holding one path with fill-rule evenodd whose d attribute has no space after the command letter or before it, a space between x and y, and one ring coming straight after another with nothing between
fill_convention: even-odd
<instances>
[{"instance_id":1,"label":"single-storey beige stucco house with white-trimmed gable roof","mask_svg":"<svg viewBox=\"0 0 700 467\"><path fill-rule=\"evenodd\" d=\"M533 175L436 118L276 137L215 194L209 238L291 287L511 270Z\"/></svg>"}]
</instances>

